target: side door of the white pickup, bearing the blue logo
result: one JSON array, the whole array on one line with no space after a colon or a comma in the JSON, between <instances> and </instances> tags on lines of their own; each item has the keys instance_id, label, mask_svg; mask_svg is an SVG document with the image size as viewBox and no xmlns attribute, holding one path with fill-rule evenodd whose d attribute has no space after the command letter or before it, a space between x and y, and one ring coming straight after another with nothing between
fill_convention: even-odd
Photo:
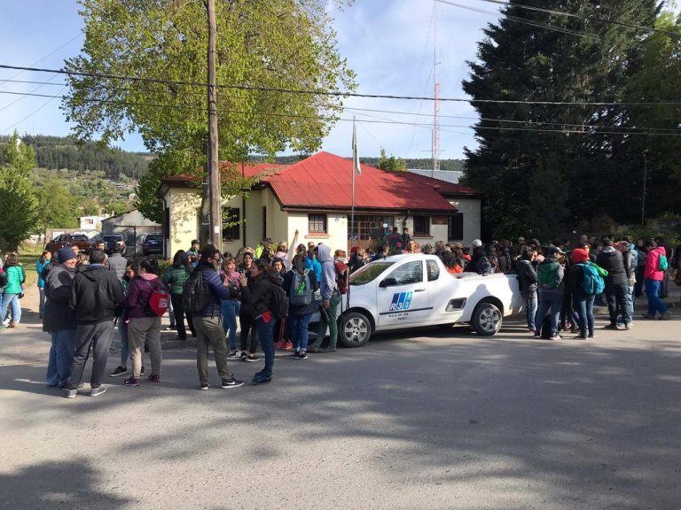
<instances>
[{"instance_id":1,"label":"side door of the white pickup, bearing the blue logo","mask_svg":"<svg viewBox=\"0 0 681 510\"><path fill-rule=\"evenodd\" d=\"M411 260L395 267L378 287L380 328L421 326L430 313L423 260Z\"/></svg>"}]
</instances>

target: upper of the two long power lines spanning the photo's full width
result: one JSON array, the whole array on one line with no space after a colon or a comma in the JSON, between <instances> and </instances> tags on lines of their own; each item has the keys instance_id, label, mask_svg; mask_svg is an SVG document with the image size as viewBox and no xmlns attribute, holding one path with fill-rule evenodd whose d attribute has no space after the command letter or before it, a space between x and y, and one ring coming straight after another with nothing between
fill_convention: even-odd
<instances>
[{"instance_id":1,"label":"upper of the two long power lines spanning the photo's full width","mask_svg":"<svg viewBox=\"0 0 681 510\"><path fill-rule=\"evenodd\" d=\"M436 0L441 2L442 0ZM0 69L23 69L41 73L61 73L74 76L86 76L90 78L105 78L107 80L122 81L148 81L151 83L162 83L166 85L185 85L191 87L207 87L207 83L196 81L173 81L161 80L159 78L140 78L137 76L118 76L106 73L82 73L77 71L67 71L63 69L45 69L39 67L8 66L0 64ZM278 92L283 94L302 94L308 96L329 96L329 97L368 97L373 99L401 99L411 101L434 101L434 97L420 96L398 96L391 94L362 94L349 91L329 91L329 90L309 90L309 89L282 89L277 87L260 87L255 85L217 85L219 89L250 90L259 92ZM680 106L678 101L663 102L607 102L607 101L528 101L518 99L468 99L463 97L440 97L440 101L452 103L498 103L498 104L547 104L547 105L582 105L582 106Z\"/></svg>"}]
</instances>

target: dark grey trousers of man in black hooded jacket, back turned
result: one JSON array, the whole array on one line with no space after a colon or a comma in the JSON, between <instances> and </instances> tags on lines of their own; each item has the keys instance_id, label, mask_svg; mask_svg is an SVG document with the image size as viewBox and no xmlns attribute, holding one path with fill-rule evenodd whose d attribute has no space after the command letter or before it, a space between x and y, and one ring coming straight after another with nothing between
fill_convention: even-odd
<instances>
[{"instance_id":1,"label":"dark grey trousers of man in black hooded jacket, back turned","mask_svg":"<svg viewBox=\"0 0 681 510\"><path fill-rule=\"evenodd\" d=\"M106 371L106 359L109 357L109 347L114 336L114 321L98 322L97 324L78 324L75 328L75 354L71 364L71 386L77 387L81 383L85 363L90 358L92 348L92 375L90 386L98 388Z\"/></svg>"}]
</instances>

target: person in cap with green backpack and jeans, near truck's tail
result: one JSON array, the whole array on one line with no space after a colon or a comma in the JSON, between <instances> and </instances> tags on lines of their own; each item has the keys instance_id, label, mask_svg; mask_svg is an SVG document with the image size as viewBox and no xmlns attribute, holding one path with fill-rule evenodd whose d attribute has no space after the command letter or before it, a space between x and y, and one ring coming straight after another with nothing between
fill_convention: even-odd
<instances>
[{"instance_id":1,"label":"person in cap with green backpack and jeans, near truck's tail","mask_svg":"<svg viewBox=\"0 0 681 510\"><path fill-rule=\"evenodd\" d=\"M535 338L540 336L540 328L544 322L546 313L551 313L551 336L550 340L560 340L558 323L560 321L560 308L563 304L563 277L565 270L560 265L558 257L563 255L556 246L549 246L548 255L536 268L538 280L539 305L536 311L537 329Z\"/></svg>"}]
</instances>

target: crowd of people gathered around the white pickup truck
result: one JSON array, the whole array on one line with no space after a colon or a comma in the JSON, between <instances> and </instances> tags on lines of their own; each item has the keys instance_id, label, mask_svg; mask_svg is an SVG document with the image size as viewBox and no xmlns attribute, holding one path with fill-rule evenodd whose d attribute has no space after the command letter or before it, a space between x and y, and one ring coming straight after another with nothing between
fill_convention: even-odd
<instances>
[{"instance_id":1,"label":"crowd of people gathered around the white pickup truck","mask_svg":"<svg viewBox=\"0 0 681 510\"><path fill-rule=\"evenodd\" d=\"M610 320L606 328L631 328L634 301L644 290L648 310L642 318L669 319L671 311L662 298L668 292L670 270L677 270L677 280L681 277L681 247L674 251L662 238L632 243L628 236L599 241L582 236L573 247L521 237L517 242L486 244L474 240L470 247L443 242L421 247L406 228L402 234L393 228L378 249L356 247L348 258L342 250L332 255L324 243L296 244L297 237L296 231L291 250L286 242L263 239L236 254L221 253L211 244L200 248L195 240L187 251L177 251L162 272L152 257L123 257L122 243L108 253L104 243L89 254L79 253L75 246L53 254L43 251L35 270L43 330L51 334L47 385L74 398L91 356L90 395L104 393L114 332L121 342L120 364L108 375L124 376L125 386L138 386L148 352L151 370L146 380L160 383L160 317L166 310L168 328L176 330L181 342L187 339L187 330L196 338L201 390L209 387L209 348L215 353L220 385L231 389L243 381L231 372L229 359L257 362L260 344L264 363L252 382L270 383L275 350L289 351L296 360L308 359L309 352L336 350L337 319L349 274L396 253L433 254L454 275L517 274L527 303L528 331L552 339L560 338L561 331L593 337L593 307L603 299ZM15 252L0 259L2 327L20 323L25 280ZM318 327L310 344L309 324L315 313Z\"/></svg>"}]
</instances>

